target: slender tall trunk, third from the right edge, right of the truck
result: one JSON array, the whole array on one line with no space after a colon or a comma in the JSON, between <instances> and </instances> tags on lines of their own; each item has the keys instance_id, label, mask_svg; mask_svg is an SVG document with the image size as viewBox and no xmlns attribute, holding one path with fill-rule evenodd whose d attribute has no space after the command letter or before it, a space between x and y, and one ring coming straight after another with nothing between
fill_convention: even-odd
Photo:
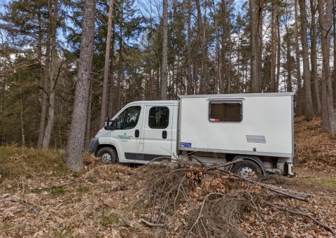
<instances>
[{"instance_id":1,"label":"slender tall trunk, third from the right edge, right of the truck","mask_svg":"<svg viewBox=\"0 0 336 238\"><path fill-rule=\"evenodd\" d=\"M304 80L304 96L305 96L305 119L307 121L313 120L314 106L311 99L311 82L309 70L309 55L308 55L308 40L307 40L307 13L306 3L304 0L299 0L300 6L300 22L301 22L301 43L303 56L303 80Z\"/></svg>"}]
</instances>

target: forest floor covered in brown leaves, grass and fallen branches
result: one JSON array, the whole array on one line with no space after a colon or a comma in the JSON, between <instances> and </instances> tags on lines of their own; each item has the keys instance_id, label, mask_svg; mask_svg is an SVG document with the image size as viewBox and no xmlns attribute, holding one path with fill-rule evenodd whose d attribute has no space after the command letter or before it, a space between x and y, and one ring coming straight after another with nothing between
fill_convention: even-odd
<instances>
[{"instance_id":1,"label":"forest floor covered in brown leaves, grass and fallen branches","mask_svg":"<svg viewBox=\"0 0 336 238\"><path fill-rule=\"evenodd\" d=\"M62 151L0 147L0 237L335 237L336 139L319 119L295 118L295 143L296 176L260 183L90 155L74 173Z\"/></svg>"}]
</instances>

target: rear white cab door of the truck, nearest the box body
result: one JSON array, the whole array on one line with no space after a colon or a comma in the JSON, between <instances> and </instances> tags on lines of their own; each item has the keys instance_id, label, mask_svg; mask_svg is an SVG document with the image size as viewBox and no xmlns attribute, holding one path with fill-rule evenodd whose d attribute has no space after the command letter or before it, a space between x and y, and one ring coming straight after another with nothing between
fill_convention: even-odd
<instances>
[{"instance_id":1,"label":"rear white cab door of the truck, nearest the box body","mask_svg":"<svg viewBox=\"0 0 336 238\"><path fill-rule=\"evenodd\" d=\"M173 105L146 104L137 162L172 157Z\"/></svg>"}]
</instances>

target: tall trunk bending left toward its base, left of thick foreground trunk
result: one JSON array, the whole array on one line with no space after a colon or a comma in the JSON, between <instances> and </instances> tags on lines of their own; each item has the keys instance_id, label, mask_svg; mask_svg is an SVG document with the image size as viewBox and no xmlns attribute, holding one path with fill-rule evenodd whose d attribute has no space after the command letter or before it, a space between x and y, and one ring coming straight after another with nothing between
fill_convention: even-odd
<instances>
[{"instance_id":1,"label":"tall trunk bending left toward its base, left of thick foreground trunk","mask_svg":"<svg viewBox=\"0 0 336 238\"><path fill-rule=\"evenodd\" d=\"M56 34L57 34L57 13L58 13L58 0L54 2L54 10L52 11L52 1L48 0L48 12L50 20L50 33L51 33L51 55L49 66L49 108L48 108L48 120L45 127L42 148L48 148L51 138L52 127L54 126L55 119L55 86L56 86Z\"/></svg>"}]
</instances>

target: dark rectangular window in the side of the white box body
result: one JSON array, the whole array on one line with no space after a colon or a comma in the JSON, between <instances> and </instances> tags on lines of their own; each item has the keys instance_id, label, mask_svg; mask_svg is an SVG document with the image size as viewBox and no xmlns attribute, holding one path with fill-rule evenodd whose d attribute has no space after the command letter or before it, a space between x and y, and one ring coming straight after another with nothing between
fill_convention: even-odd
<instances>
[{"instance_id":1,"label":"dark rectangular window in the side of the white box body","mask_svg":"<svg viewBox=\"0 0 336 238\"><path fill-rule=\"evenodd\" d=\"M240 122L241 118L241 102L209 103L209 120L211 122Z\"/></svg>"}]
</instances>

